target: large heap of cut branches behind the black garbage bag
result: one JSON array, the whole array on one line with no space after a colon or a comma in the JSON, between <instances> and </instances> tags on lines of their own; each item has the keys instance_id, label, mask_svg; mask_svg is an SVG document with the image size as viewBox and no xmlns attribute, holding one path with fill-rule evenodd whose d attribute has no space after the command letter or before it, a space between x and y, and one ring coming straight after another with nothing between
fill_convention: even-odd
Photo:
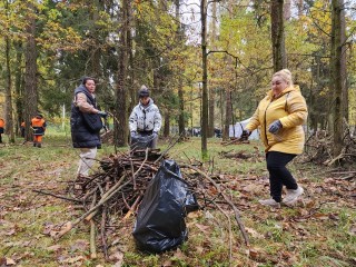
<instances>
[{"instance_id":1,"label":"large heap of cut branches behind the black garbage bag","mask_svg":"<svg viewBox=\"0 0 356 267\"><path fill-rule=\"evenodd\" d=\"M162 154L148 151L142 154L126 154L112 155L100 160L99 170L89 177L79 177L70 182L68 191L71 197L56 196L41 190L42 192L75 201L82 205L83 214L72 221L62 224L58 230L51 234L55 238L60 238L81 221L90 224L90 254L91 258L97 257L96 241L100 239L102 251L108 258L108 235L107 230L115 228L113 221L123 220L131 215L136 215L138 206L142 199L149 181L158 171L160 160L165 159ZM245 227L240 220L239 211L224 194L218 178L211 178L201 170L201 165L179 164L182 177L188 181L194 189L197 199L204 204L200 207L218 208L228 219L231 233L230 217L226 210L227 205L235 214L236 221L243 233L246 245L249 244ZM119 217L119 220L117 219ZM116 218L116 219L113 219ZM96 236L96 229L100 229L100 235ZM230 237L230 240L233 238ZM231 255L231 244L230 244Z\"/></svg>"}]
</instances>

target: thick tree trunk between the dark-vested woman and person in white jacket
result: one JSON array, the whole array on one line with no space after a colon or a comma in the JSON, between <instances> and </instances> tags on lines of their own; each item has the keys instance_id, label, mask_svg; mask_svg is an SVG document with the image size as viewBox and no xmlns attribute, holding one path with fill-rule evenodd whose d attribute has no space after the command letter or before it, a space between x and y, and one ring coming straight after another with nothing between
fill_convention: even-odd
<instances>
[{"instance_id":1,"label":"thick tree trunk between the dark-vested woman and person in white jacket","mask_svg":"<svg viewBox=\"0 0 356 267\"><path fill-rule=\"evenodd\" d=\"M115 142L118 147L128 144L128 116L127 116L127 65L128 65L128 34L129 34L129 10L130 0L122 0L121 28L120 28L120 52L118 67L118 81L116 90L116 119Z\"/></svg>"}]
</instances>

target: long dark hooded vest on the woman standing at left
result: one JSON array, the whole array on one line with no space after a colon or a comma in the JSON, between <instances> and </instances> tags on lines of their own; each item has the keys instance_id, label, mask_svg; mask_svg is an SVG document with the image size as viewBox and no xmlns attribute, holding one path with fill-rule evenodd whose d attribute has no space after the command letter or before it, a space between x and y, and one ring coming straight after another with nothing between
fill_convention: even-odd
<instances>
[{"instance_id":1,"label":"long dark hooded vest on the woman standing at left","mask_svg":"<svg viewBox=\"0 0 356 267\"><path fill-rule=\"evenodd\" d=\"M95 148L101 145L99 132L93 132L89 129L88 125L85 121L80 107L78 107L78 93L83 93L87 97L87 101L82 103L88 106L86 110L90 112L96 110L97 102L95 97L87 90L83 85L80 85L75 90L75 100L71 105L71 117L70 117L70 127L71 127L71 138L75 148Z\"/></svg>"}]
</instances>

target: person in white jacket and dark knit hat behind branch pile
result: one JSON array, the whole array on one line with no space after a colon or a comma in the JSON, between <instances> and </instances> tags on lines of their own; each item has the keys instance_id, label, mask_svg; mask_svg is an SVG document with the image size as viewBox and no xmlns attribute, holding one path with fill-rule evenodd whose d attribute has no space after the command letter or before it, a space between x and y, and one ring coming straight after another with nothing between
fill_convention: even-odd
<instances>
[{"instance_id":1,"label":"person in white jacket and dark knit hat behind branch pile","mask_svg":"<svg viewBox=\"0 0 356 267\"><path fill-rule=\"evenodd\" d=\"M158 107L149 97L149 90L146 86L140 88L138 97L139 103L134 108L129 118L131 142L132 139L150 136L151 141L148 147L155 149L157 147L158 132L162 125L162 118Z\"/></svg>"}]
</instances>

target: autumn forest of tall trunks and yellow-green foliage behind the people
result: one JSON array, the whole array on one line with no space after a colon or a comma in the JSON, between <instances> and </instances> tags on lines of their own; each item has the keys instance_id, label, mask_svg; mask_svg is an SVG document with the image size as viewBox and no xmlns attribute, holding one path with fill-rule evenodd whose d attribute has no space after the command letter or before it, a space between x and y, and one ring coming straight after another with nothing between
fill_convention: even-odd
<instances>
[{"instance_id":1,"label":"autumn forest of tall trunks and yellow-green foliage behind the people","mask_svg":"<svg viewBox=\"0 0 356 267\"><path fill-rule=\"evenodd\" d=\"M308 108L309 134L354 127L354 1L1 1L0 93L9 140L37 112L68 125L73 89L98 81L126 146L141 85L164 116L164 136L249 118L274 71L288 68ZM342 108L340 108L342 107ZM345 120L344 120L345 119ZM26 139L31 131L26 129ZM334 139L335 155L342 137Z\"/></svg>"}]
</instances>

